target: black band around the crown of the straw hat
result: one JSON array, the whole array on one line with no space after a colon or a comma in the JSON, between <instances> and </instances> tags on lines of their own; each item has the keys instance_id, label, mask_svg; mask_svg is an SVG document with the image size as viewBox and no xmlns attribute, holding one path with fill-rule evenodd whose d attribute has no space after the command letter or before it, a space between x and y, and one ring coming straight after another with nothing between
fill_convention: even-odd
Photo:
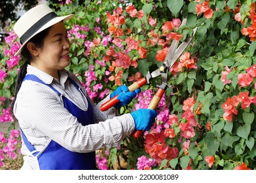
<instances>
[{"instance_id":1,"label":"black band around the crown of the straw hat","mask_svg":"<svg viewBox=\"0 0 256 183\"><path fill-rule=\"evenodd\" d=\"M23 44L23 42L26 42L27 39L29 39L34 33L36 33L43 25L45 25L47 22L52 20L53 18L58 17L58 15L55 12L50 12L49 14L43 16L38 22L32 25L22 37L20 37L20 44Z\"/></svg>"}]
</instances>

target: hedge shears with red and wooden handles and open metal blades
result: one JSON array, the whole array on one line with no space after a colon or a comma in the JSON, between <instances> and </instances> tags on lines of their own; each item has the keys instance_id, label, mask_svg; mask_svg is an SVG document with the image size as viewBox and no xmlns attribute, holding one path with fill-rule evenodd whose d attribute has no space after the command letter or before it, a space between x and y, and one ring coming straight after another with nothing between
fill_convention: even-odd
<instances>
[{"instance_id":1,"label":"hedge shears with red and wooden handles and open metal blades","mask_svg":"<svg viewBox=\"0 0 256 183\"><path fill-rule=\"evenodd\" d=\"M186 19L182 20L181 26L186 24ZM190 44L192 41L194 35L196 34L197 27L194 28L192 36L186 37L185 41L181 43L181 45L178 47L179 41L176 39L173 39L171 42L171 46L169 48L169 51L167 53L167 56L165 57L165 60L163 61L163 65L161 65L158 69L153 71L152 73L147 73L145 77L140 78L137 80L137 82L134 82L131 86L129 86L129 91L134 92L137 88L140 88L144 84L150 84L150 80L152 78L156 78L157 76L161 75L161 84L157 85L158 91L155 93L154 97L152 98L152 101L150 101L150 104L148 105L148 108L156 109L158 106L158 103L161 100L161 97L163 96L163 93L167 89L167 76L168 72L173 67L174 63L177 61L177 59L181 56L181 54L184 52L186 47ZM113 107L117 103L119 103L119 100L117 99L116 95L115 97L112 97L112 99L106 101L100 106L100 110L105 111L108 110L108 108ZM133 133L133 137L139 138L143 131L135 131Z\"/></svg>"}]
</instances>

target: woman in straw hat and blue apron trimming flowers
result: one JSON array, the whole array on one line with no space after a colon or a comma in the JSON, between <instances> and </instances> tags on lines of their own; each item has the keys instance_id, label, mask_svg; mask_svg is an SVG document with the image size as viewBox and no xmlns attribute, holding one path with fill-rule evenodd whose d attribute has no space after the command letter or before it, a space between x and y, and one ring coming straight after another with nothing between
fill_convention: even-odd
<instances>
[{"instance_id":1,"label":"woman in straw hat and blue apron trimming flowers","mask_svg":"<svg viewBox=\"0 0 256 183\"><path fill-rule=\"evenodd\" d=\"M119 86L94 105L79 80L64 68L70 64L70 41L64 21L47 5L26 12L14 25L22 44L16 55L24 63L16 81L13 105L22 134L22 169L96 169L95 150L117 146L136 130L148 130L156 110L140 109L117 116L137 92ZM119 95L106 112L102 103Z\"/></svg>"}]
</instances>

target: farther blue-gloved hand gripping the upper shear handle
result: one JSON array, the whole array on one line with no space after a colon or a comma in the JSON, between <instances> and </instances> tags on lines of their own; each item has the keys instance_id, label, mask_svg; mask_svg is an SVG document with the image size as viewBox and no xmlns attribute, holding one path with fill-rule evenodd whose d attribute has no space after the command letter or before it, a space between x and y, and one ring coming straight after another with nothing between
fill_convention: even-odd
<instances>
[{"instance_id":1,"label":"farther blue-gloved hand gripping the upper shear handle","mask_svg":"<svg viewBox=\"0 0 256 183\"><path fill-rule=\"evenodd\" d=\"M118 94L117 99L119 100L119 103L114 105L114 107L119 108L121 106L129 105L129 103L131 103L133 98L136 97L137 93L140 93L140 91L140 88L138 88L135 90L135 92L129 92L128 87L122 85L110 94L110 99L112 99Z\"/></svg>"}]
</instances>

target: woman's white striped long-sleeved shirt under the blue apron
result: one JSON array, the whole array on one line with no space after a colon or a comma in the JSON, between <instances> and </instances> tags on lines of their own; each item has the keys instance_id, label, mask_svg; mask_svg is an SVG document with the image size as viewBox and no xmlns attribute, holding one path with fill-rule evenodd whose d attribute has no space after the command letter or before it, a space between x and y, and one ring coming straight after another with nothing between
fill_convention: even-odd
<instances>
[{"instance_id":1,"label":"woman's white striped long-sleeved shirt under the blue apron","mask_svg":"<svg viewBox=\"0 0 256 183\"><path fill-rule=\"evenodd\" d=\"M62 99L48 86L25 80L20 87L14 104L14 116L22 131L36 150L42 151L51 140L58 142L72 152L92 152L107 146L117 146L121 140L131 134L135 124L131 114L118 116L116 108L112 107L102 112L99 107L110 99L108 95L97 105L89 99L86 90L70 71L59 71L60 82L53 76L28 65L28 75L35 75L46 84L62 93L77 107L87 110L88 102L93 105L95 124L81 125L75 116L64 108ZM70 83L68 77L79 84L82 93ZM30 155L26 145L22 143L24 165L22 169L38 169L36 159Z\"/></svg>"}]
</instances>

